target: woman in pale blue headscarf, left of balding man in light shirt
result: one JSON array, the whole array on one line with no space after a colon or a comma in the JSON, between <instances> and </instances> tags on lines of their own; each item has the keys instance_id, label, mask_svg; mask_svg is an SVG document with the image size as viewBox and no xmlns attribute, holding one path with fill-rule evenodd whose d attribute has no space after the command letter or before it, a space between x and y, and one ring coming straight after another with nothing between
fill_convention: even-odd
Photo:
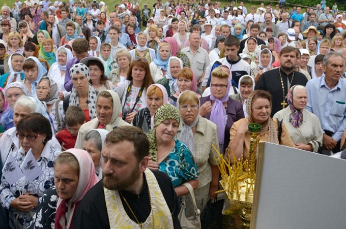
<instances>
[{"instance_id":1,"label":"woman in pale blue headscarf, left of balding man in light shirt","mask_svg":"<svg viewBox=\"0 0 346 229\"><path fill-rule=\"evenodd\" d=\"M150 73L155 82L165 78L170 54L170 45L166 42L160 43L157 48L156 59L154 59L149 65Z\"/></svg>"}]
</instances>

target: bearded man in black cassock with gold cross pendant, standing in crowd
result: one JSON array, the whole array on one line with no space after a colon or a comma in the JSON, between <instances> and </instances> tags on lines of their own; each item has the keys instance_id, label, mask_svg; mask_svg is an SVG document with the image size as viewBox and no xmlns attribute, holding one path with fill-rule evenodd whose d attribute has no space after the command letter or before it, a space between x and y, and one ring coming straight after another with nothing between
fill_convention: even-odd
<instances>
[{"instance_id":1,"label":"bearded man in black cassock with gold cross pendant, standing in crowd","mask_svg":"<svg viewBox=\"0 0 346 229\"><path fill-rule=\"evenodd\" d=\"M280 68L262 74L255 86L255 90L266 90L272 95L273 115L287 107L287 92L296 84L307 83L304 74L294 71L297 64L297 53L291 46L281 49L279 54Z\"/></svg>"}]
</instances>

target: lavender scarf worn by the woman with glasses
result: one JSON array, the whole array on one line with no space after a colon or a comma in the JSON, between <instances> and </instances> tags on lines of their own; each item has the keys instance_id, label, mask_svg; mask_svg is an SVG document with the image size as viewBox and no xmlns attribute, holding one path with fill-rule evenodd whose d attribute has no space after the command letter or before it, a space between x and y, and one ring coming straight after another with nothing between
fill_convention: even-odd
<instances>
[{"instance_id":1,"label":"lavender scarf worn by the woman with glasses","mask_svg":"<svg viewBox=\"0 0 346 229\"><path fill-rule=\"evenodd\" d=\"M229 67L227 67L227 68L229 68ZM212 108L212 112L210 114L210 121L214 122L217 125L219 144L223 144L224 137L225 137L224 135L225 135L225 128L226 128L227 119L226 119L226 111L223 107L223 103L228 101L228 98L229 98L228 93L229 93L230 86L232 86L232 72L229 71L227 91L226 91L225 95L221 98L221 100L216 99L214 97L213 93L210 93L210 99L212 101L215 101L213 108Z\"/></svg>"}]
</instances>

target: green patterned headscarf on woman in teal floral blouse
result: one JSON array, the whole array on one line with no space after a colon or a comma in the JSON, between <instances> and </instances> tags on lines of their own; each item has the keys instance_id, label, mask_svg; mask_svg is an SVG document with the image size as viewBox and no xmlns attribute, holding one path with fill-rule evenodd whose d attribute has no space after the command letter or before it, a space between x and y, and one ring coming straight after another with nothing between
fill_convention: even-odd
<instances>
[{"instance_id":1,"label":"green patterned headscarf on woman in teal floral blouse","mask_svg":"<svg viewBox=\"0 0 346 229\"><path fill-rule=\"evenodd\" d=\"M180 113L178 108L171 104L164 104L157 109L154 115L154 128L149 130L148 139L150 143L149 156L153 157L153 161L156 161L157 146L156 146L156 127L167 119L174 119L180 124Z\"/></svg>"}]
</instances>

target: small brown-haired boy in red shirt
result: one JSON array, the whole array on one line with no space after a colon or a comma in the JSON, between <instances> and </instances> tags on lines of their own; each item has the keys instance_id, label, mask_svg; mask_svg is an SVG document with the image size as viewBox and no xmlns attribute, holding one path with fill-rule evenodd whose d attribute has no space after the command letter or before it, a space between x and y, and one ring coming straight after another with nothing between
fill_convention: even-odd
<instances>
[{"instance_id":1,"label":"small brown-haired boy in red shirt","mask_svg":"<svg viewBox=\"0 0 346 229\"><path fill-rule=\"evenodd\" d=\"M56 134L62 150L74 148L80 126L85 122L85 115L80 107L69 106L65 113L66 129Z\"/></svg>"}]
</instances>

